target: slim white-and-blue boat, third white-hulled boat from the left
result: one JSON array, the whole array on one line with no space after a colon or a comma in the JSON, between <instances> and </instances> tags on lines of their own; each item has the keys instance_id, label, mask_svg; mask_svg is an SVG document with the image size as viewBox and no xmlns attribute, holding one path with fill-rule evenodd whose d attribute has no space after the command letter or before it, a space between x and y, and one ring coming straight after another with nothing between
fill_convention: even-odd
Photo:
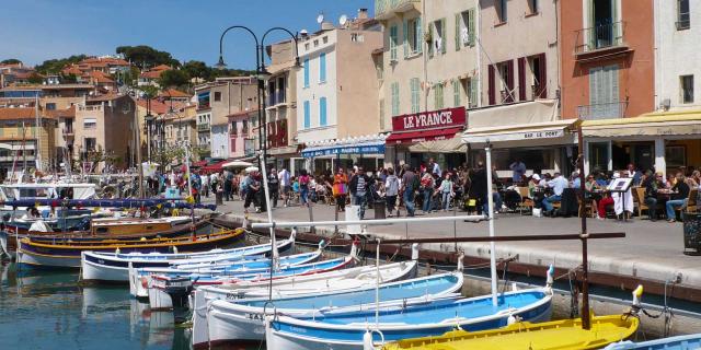
<instances>
[{"instance_id":1,"label":"slim white-and-blue boat, third white-hulled boat from the left","mask_svg":"<svg viewBox=\"0 0 701 350\"><path fill-rule=\"evenodd\" d=\"M172 283L176 283L177 289L188 289L186 279L189 280L193 288L198 285L211 285L221 284L222 280L231 283L233 281L271 281L276 279L286 279L295 276L323 273L327 271L340 270L352 267L357 261L355 249L352 249L350 254L346 257L335 258L330 260L294 265L294 266L279 266L273 270L268 268L257 269L254 271L230 271L227 273L188 273L184 276L162 276L151 275L151 280L148 289L149 304L153 308L170 308L173 307L172 299L169 294L169 290Z\"/></svg>"}]
</instances>

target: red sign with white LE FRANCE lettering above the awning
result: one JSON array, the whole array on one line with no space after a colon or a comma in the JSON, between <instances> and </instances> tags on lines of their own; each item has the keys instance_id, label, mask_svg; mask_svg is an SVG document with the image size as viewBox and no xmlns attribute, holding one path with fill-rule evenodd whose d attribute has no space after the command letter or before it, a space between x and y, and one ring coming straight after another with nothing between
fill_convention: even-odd
<instances>
[{"instance_id":1,"label":"red sign with white LE FRANCE lettering above the awning","mask_svg":"<svg viewBox=\"0 0 701 350\"><path fill-rule=\"evenodd\" d=\"M392 131L413 131L462 127L466 122L464 107L405 114L392 118Z\"/></svg>"}]
</instances>

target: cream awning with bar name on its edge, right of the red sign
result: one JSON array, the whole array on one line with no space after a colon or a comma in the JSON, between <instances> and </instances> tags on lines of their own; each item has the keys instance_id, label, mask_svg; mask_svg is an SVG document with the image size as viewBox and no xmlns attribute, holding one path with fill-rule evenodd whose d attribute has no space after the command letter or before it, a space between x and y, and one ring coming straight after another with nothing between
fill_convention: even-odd
<instances>
[{"instance_id":1,"label":"cream awning with bar name on its edge, right of the red sign","mask_svg":"<svg viewBox=\"0 0 701 350\"><path fill-rule=\"evenodd\" d=\"M572 138L570 129L576 121L576 119L565 119L528 125L472 128L462 133L462 142L495 143L522 141L526 143L550 143L548 141L563 141L563 139L565 139L564 141L568 141L567 139Z\"/></svg>"}]
</instances>

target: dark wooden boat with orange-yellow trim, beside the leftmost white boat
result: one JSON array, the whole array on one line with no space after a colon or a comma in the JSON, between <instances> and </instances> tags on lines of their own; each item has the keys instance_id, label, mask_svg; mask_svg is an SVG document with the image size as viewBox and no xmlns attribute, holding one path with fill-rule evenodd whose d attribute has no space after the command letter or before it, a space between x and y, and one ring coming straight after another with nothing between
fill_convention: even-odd
<instances>
[{"instance_id":1,"label":"dark wooden boat with orange-yellow trim, beside the leftmost white boat","mask_svg":"<svg viewBox=\"0 0 701 350\"><path fill-rule=\"evenodd\" d=\"M79 268L82 252L118 253L177 253L204 252L241 244L245 237L243 229L218 233L196 234L183 237L157 237L140 240L73 241L70 238L35 241L20 240L18 262L34 267Z\"/></svg>"}]
</instances>

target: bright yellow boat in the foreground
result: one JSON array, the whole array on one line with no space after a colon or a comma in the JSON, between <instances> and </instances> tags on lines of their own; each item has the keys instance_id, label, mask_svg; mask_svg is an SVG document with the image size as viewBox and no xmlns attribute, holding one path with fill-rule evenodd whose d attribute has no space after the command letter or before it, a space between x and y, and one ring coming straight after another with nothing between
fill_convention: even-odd
<instances>
[{"instance_id":1,"label":"bright yellow boat in the foreground","mask_svg":"<svg viewBox=\"0 0 701 350\"><path fill-rule=\"evenodd\" d=\"M642 287L639 287L633 292L633 305L631 310L623 315L591 315L590 327L588 327L588 329L583 327L582 318L537 324L516 322L499 329L482 331L451 330L436 337L399 340L397 342L386 345L382 347L382 350L600 349L601 347L612 342L628 339L635 334L640 325L637 310L640 310L640 298L642 295Z\"/></svg>"}]
</instances>

